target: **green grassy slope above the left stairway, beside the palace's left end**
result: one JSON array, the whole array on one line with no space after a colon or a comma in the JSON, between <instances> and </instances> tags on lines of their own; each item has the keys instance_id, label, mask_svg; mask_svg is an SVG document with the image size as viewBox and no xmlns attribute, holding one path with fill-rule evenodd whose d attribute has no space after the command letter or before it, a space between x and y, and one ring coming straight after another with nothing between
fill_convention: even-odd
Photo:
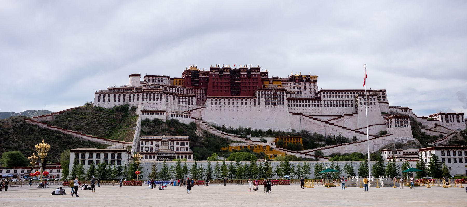
<instances>
[{"instance_id":1,"label":"green grassy slope above the left stairway, beside the palace's left end","mask_svg":"<svg viewBox=\"0 0 467 207\"><path fill-rule=\"evenodd\" d=\"M87 103L47 123L92 136L131 142L138 118L135 109L128 105L106 109Z\"/></svg>"}]
</instances>

